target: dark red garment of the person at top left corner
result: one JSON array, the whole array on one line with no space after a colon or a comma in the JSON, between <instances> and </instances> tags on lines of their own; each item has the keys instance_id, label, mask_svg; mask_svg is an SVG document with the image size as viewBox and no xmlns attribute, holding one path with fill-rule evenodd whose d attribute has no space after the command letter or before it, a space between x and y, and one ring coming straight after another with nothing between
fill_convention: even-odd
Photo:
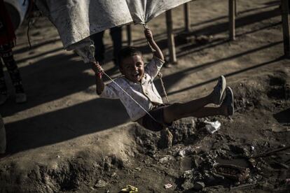
<instances>
[{"instance_id":1,"label":"dark red garment of the person at top left corner","mask_svg":"<svg viewBox=\"0 0 290 193\"><path fill-rule=\"evenodd\" d=\"M11 17L5 8L4 0L0 0L0 45L11 43L15 39Z\"/></svg>"}]
</instances>

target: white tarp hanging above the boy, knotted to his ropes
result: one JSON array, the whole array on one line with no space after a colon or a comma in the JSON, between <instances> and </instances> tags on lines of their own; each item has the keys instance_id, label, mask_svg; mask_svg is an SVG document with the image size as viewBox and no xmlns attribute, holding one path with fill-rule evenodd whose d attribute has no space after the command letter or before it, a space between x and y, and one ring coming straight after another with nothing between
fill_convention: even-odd
<instances>
[{"instance_id":1,"label":"white tarp hanging above the boy, knotted to his ropes","mask_svg":"<svg viewBox=\"0 0 290 193\"><path fill-rule=\"evenodd\" d=\"M35 0L57 28L67 50L90 60L89 36L123 24L145 24L160 13L191 0ZM88 62L88 61L85 61Z\"/></svg>"}]
</instances>

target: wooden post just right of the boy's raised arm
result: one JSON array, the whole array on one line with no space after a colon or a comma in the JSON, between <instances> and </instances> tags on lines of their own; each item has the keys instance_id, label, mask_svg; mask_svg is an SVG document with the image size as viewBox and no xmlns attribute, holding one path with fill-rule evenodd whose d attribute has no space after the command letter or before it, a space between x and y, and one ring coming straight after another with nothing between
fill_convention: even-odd
<instances>
[{"instance_id":1,"label":"wooden post just right of the boy's raised arm","mask_svg":"<svg viewBox=\"0 0 290 193\"><path fill-rule=\"evenodd\" d=\"M172 33L172 11L166 11L166 26L167 26L167 44L170 51L170 63L177 63L177 55L175 52L174 35Z\"/></svg>"}]
</instances>

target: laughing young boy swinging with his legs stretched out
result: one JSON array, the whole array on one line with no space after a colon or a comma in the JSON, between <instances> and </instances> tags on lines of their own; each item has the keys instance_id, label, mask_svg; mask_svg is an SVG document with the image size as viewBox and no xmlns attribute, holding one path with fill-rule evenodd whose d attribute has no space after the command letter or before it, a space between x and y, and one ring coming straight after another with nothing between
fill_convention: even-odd
<instances>
[{"instance_id":1,"label":"laughing young boy swinging with his legs stretched out","mask_svg":"<svg viewBox=\"0 0 290 193\"><path fill-rule=\"evenodd\" d=\"M96 73L97 94L104 98L120 99L130 119L151 131L160 131L182 117L233 115L233 92L230 87L226 87L223 76L219 78L212 93L205 97L186 103L164 104L153 84L153 79L164 64L163 53L153 40L151 30L145 29L144 33L155 50L151 62L144 66L142 54L137 48L123 48L118 55L119 69L123 76L107 85L102 80L102 67L97 62L92 64ZM224 92L226 96L223 99ZM209 103L219 107L205 107Z\"/></svg>"}]
</instances>

